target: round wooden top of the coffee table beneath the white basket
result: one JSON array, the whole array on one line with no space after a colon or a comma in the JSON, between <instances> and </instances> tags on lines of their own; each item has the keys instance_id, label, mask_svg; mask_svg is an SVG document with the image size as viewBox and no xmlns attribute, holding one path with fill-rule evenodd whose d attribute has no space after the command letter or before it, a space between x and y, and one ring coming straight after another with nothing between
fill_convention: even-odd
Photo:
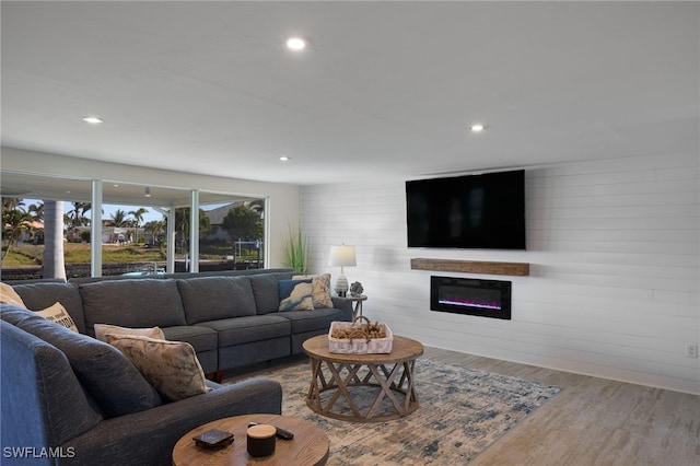
<instances>
[{"instance_id":1,"label":"round wooden top of the coffee table beneath the white basket","mask_svg":"<svg viewBox=\"0 0 700 466\"><path fill-rule=\"evenodd\" d=\"M385 354L342 354L330 352L328 348L328 335L318 335L304 341L304 352L311 358L330 362L363 363L363 364L392 364L395 362L410 361L423 353L423 345L420 341L406 337L394 336L392 352Z\"/></svg>"}]
</instances>

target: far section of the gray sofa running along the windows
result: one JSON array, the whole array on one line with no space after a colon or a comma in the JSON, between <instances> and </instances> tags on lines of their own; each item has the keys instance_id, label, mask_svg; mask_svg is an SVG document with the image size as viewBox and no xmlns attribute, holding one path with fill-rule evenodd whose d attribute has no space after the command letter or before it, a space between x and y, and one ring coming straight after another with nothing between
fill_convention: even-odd
<instances>
[{"instance_id":1,"label":"far section of the gray sofa running along the windows","mask_svg":"<svg viewBox=\"0 0 700 466\"><path fill-rule=\"evenodd\" d=\"M279 312L279 280L291 269L82 279L14 284L31 310L60 302L82 334L95 324L159 326L168 340L187 341L202 369L220 382L223 371L302 353L310 337L332 321L352 321L352 302L334 308Z\"/></svg>"}]
</instances>

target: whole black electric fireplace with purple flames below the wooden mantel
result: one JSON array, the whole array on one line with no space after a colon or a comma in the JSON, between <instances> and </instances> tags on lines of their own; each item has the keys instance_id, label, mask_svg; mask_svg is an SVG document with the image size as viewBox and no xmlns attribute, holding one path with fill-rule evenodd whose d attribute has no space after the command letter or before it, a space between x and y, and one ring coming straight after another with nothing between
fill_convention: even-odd
<instances>
[{"instance_id":1,"label":"whole black electric fireplace with purple flames below the wooden mantel","mask_svg":"<svg viewBox=\"0 0 700 466\"><path fill-rule=\"evenodd\" d=\"M430 310L510 321L511 282L432 276Z\"/></svg>"}]
</instances>

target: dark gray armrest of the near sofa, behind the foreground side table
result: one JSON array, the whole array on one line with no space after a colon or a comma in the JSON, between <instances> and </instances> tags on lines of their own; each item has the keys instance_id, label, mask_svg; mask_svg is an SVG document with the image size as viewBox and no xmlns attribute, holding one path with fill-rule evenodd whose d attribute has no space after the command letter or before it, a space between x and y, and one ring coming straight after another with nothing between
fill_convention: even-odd
<instances>
[{"instance_id":1,"label":"dark gray armrest of the near sofa, behind the foreground side table","mask_svg":"<svg viewBox=\"0 0 700 466\"><path fill-rule=\"evenodd\" d=\"M282 387L253 378L145 411L107 419L67 442L61 465L172 465L175 443L188 431L217 419L282 410ZM66 455L68 456L68 455Z\"/></svg>"}]
</instances>

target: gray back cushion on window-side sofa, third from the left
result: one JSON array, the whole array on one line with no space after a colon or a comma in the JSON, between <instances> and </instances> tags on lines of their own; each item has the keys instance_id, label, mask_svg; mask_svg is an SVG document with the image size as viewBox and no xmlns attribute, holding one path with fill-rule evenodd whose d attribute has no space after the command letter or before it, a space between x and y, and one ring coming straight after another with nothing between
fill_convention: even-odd
<instances>
[{"instance_id":1,"label":"gray back cushion on window-side sofa, third from the left","mask_svg":"<svg viewBox=\"0 0 700 466\"><path fill-rule=\"evenodd\" d=\"M177 280L187 324L255 315L247 277L202 277Z\"/></svg>"}]
</instances>

